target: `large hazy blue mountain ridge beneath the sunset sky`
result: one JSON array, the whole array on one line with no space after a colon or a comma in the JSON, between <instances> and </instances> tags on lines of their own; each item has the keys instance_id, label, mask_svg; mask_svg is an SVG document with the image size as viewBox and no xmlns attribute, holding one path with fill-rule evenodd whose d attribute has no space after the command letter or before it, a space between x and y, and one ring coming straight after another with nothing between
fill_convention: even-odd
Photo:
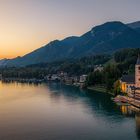
<instances>
[{"instance_id":1,"label":"large hazy blue mountain ridge beneath the sunset sky","mask_svg":"<svg viewBox=\"0 0 140 140\"><path fill-rule=\"evenodd\" d=\"M122 48L139 47L140 33L134 28L134 24L126 25L114 21L96 26L79 37L72 36L64 40L54 40L23 57L7 60L4 64L25 66L87 55L112 54ZM2 61L0 61L1 66Z\"/></svg>"}]
</instances>

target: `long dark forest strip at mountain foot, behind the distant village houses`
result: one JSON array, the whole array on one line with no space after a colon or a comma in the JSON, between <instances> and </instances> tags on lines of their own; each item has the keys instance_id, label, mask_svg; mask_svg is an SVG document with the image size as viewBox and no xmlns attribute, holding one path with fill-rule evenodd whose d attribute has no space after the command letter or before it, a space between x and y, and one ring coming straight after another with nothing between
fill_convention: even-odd
<instances>
[{"instance_id":1,"label":"long dark forest strip at mountain foot, behind the distant village houses","mask_svg":"<svg viewBox=\"0 0 140 140\"><path fill-rule=\"evenodd\" d=\"M40 63L26 67L1 68L3 78L43 78L48 74L57 74L61 71L68 76L80 76L93 71L94 65L104 64L109 61L110 55L96 55L79 59L68 59L53 63Z\"/></svg>"}]
</instances>

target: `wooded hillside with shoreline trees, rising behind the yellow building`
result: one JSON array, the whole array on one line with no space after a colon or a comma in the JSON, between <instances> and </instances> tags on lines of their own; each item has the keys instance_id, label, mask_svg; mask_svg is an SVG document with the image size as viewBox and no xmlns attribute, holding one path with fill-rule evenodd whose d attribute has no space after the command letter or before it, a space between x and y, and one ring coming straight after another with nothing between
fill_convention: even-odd
<instances>
[{"instance_id":1,"label":"wooded hillside with shoreline trees, rising behind the yellow building","mask_svg":"<svg viewBox=\"0 0 140 140\"><path fill-rule=\"evenodd\" d=\"M119 78L123 74L133 74L140 49L123 49L117 51L112 59L104 65L102 71L93 71L88 74L86 86L101 86L107 92L120 93Z\"/></svg>"}]
</instances>

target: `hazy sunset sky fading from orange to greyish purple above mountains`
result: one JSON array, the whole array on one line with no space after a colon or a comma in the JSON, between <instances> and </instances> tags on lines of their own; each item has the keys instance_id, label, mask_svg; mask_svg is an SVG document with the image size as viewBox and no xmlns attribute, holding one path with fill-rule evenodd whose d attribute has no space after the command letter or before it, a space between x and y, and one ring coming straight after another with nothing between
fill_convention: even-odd
<instances>
[{"instance_id":1,"label":"hazy sunset sky fading from orange to greyish purple above mountains","mask_svg":"<svg viewBox=\"0 0 140 140\"><path fill-rule=\"evenodd\" d=\"M0 0L0 58L22 56L112 20L140 20L140 0Z\"/></svg>"}]
</instances>

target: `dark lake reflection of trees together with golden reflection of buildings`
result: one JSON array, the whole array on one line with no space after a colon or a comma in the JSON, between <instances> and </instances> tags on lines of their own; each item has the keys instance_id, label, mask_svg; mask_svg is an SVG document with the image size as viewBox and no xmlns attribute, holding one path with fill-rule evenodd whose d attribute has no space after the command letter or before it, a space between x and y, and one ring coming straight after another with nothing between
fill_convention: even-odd
<instances>
[{"instance_id":1,"label":"dark lake reflection of trees together with golden reflection of buildings","mask_svg":"<svg viewBox=\"0 0 140 140\"><path fill-rule=\"evenodd\" d=\"M110 101L110 95L105 95L102 93L96 94L94 92L83 91L77 88L71 88L69 86L58 84L51 84L49 89L53 91L53 96L60 96L63 94L67 100L77 100L77 98L84 98L82 102L84 102L86 106L90 107L93 114L95 111L96 115L97 113L100 115L104 114L108 116L110 121L114 122L115 119L119 119L119 121L122 119L123 121L124 118L122 115L125 117L135 118L136 134L138 139L140 139L140 109L131 105L116 106L116 104ZM57 92L54 92L54 89ZM109 116L112 116L113 118L109 118Z\"/></svg>"}]
</instances>

